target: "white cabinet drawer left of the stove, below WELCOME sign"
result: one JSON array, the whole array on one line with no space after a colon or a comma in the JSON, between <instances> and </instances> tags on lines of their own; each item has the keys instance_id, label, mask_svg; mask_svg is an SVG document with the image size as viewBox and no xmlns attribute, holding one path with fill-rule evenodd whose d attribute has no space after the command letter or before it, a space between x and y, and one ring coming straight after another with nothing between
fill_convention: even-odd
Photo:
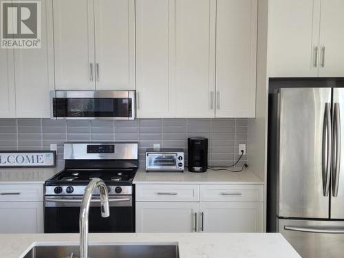
<instances>
[{"instance_id":1,"label":"white cabinet drawer left of the stove, below WELCOME sign","mask_svg":"<svg viewBox=\"0 0 344 258\"><path fill-rule=\"evenodd\" d=\"M43 202L43 184L0 184L0 202Z\"/></svg>"}]
</instances>

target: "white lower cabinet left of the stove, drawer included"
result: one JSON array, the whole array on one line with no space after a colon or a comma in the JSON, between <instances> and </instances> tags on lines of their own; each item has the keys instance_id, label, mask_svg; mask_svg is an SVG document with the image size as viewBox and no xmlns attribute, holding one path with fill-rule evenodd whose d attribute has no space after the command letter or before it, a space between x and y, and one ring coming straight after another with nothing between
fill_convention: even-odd
<instances>
[{"instance_id":1,"label":"white lower cabinet left of the stove, drawer included","mask_svg":"<svg viewBox=\"0 0 344 258\"><path fill-rule=\"evenodd\" d=\"M0 234L43 231L43 184L0 184Z\"/></svg>"}]
</instances>

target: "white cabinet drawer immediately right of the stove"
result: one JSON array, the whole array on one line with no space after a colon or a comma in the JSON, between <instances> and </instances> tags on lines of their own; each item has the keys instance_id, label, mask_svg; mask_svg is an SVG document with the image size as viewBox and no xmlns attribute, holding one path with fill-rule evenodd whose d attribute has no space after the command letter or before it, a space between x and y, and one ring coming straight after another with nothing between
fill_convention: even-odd
<instances>
[{"instance_id":1,"label":"white cabinet drawer immediately right of the stove","mask_svg":"<svg viewBox=\"0 0 344 258\"><path fill-rule=\"evenodd\" d=\"M136 201L149 202L198 202L197 184L138 184Z\"/></svg>"}]
</instances>

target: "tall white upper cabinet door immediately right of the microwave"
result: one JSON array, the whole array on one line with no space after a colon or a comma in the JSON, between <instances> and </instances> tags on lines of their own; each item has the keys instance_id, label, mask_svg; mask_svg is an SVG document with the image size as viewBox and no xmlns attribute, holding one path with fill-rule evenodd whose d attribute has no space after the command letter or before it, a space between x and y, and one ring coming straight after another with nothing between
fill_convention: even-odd
<instances>
[{"instance_id":1,"label":"tall white upper cabinet door immediately right of the microwave","mask_svg":"<svg viewBox=\"0 0 344 258\"><path fill-rule=\"evenodd\" d=\"M174 0L136 0L136 69L138 118L173 118Z\"/></svg>"}]
</instances>

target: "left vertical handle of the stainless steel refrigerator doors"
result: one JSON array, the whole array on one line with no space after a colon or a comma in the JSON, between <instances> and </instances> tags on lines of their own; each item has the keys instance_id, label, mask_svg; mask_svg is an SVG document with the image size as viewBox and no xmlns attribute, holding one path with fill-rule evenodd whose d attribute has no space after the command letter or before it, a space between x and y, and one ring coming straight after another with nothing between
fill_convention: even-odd
<instances>
[{"instance_id":1,"label":"left vertical handle of the stainless steel refrigerator doors","mask_svg":"<svg viewBox=\"0 0 344 258\"><path fill-rule=\"evenodd\" d=\"M330 189L330 173L332 162L332 129L331 129L331 105L325 104L325 114L323 120L323 196L328 196Z\"/></svg>"}]
</instances>

